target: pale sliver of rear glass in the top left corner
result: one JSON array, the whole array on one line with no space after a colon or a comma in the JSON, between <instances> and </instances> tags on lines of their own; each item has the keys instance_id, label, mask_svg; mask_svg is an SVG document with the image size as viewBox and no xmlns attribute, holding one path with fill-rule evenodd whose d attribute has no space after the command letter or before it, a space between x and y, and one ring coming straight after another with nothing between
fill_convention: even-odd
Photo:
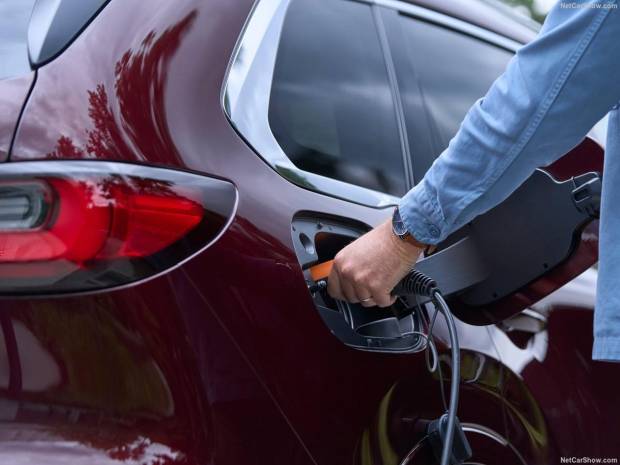
<instances>
[{"instance_id":1,"label":"pale sliver of rear glass in the top left corner","mask_svg":"<svg viewBox=\"0 0 620 465\"><path fill-rule=\"evenodd\" d=\"M0 1L0 79L30 70L27 34L35 0Z\"/></svg>"}]
</instances>

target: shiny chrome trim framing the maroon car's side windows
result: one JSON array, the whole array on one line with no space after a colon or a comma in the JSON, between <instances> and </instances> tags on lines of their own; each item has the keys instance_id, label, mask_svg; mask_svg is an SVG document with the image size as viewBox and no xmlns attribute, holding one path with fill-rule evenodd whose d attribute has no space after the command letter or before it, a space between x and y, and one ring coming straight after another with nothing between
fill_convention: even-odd
<instances>
[{"instance_id":1,"label":"shiny chrome trim framing the maroon car's side windows","mask_svg":"<svg viewBox=\"0 0 620 465\"><path fill-rule=\"evenodd\" d=\"M257 0L233 52L222 89L222 107L235 130L276 172L306 189L374 208L398 204L399 198L295 166L269 125L269 100L280 35L291 0ZM358 0L395 9L478 37L511 51L521 44L465 21L398 0Z\"/></svg>"}]
</instances>

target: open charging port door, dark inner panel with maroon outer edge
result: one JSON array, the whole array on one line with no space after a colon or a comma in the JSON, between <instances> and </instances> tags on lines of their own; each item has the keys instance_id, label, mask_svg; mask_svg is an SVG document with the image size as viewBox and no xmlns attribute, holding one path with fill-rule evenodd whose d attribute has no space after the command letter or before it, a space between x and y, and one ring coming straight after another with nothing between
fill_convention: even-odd
<instances>
[{"instance_id":1,"label":"open charging port door, dark inner panel with maroon outer edge","mask_svg":"<svg viewBox=\"0 0 620 465\"><path fill-rule=\"evenodd\" d=\"M578 256L578 249L586 228L598 242L601 187L598 172L557 181L536 170L504 202L448 238L446 246L470 238L486 270L485 279L451 296L454 313L473 324L502 321L592 266L598 255ZM449 264L441 254L436 259L427 271L442 274Z\"/></svg>"}]
</instances>

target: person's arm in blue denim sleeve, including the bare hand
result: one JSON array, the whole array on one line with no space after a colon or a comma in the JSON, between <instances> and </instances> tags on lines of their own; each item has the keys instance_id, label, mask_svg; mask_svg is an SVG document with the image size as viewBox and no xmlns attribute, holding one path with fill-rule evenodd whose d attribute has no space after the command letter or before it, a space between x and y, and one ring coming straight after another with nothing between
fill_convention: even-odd
<instances>
[{"instance_id":1,"label":"person's arm in blue denim sleeve, including the bare hand","mask_svg":"<svg viewBox=\"0 0 620 465\"><path fill-rule=\"evenodd\" d=\"M577 3L556 5L536 40L515 55L403 197L399 211L415 239L436 244L502 202L537 167L577 145L620 100L616 0ZM367 306L389 305L391 289L420 252L394 241L386 222L336 256L328 291Z\"/></svg>"}]
</instances>

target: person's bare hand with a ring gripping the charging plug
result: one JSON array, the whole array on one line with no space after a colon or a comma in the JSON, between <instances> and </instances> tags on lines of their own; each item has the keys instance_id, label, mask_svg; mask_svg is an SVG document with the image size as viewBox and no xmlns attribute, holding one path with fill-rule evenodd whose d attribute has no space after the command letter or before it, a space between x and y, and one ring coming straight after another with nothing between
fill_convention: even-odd
<instances>
[{"instance_id":1,"label":"person's bare hand with a ring gripping the charging plug","mask_svg":"<svg viewBox=\"0 0 620 465\"><path fill-rule=\"evenodd\" d=\"M336 255L327 292L334 299L387 307L396 300L390 292L411 270L422 249L400 240L385 221Z\"/></svg>"}]
</instances>

